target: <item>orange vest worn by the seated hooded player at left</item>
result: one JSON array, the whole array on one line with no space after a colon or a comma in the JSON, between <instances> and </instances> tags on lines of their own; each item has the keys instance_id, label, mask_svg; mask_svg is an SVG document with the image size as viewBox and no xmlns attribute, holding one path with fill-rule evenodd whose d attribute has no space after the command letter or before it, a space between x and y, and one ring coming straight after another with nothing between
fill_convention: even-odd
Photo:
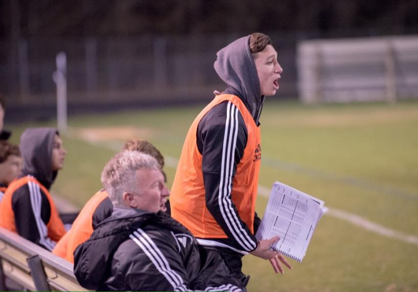
<instances>
[{"instance_id":1,"label":"orange vest worn by the seated hooded player at left","mask_svg":"<svg viewBox=\"0 0 418 292\"><path fill-rule=\"evenodd\" d=\"M64 224L58 215L57 208L55 207L54 200L52 199L49 191L44 186L42 186L35 177L31 175L16 179L7 188L2 203L0 204L0 226L17 233L14 221L14 212L12 208L12 196L18 188L28 184L29 182L37 184L48 198L51 208L50 220L47 223L48 237L54 241L58 241L65 234ZM30 200L29 195L28 200ZM32 223L34 222L28 222L28 224Z\"/></svg>"}]
</instances>

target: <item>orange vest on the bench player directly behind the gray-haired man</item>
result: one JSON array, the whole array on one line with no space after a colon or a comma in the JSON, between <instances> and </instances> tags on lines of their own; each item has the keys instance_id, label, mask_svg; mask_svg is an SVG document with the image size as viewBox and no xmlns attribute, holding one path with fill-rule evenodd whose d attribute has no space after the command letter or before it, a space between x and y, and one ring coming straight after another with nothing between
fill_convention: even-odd
<instances>
[{"instance_id":1,"label":"orange vest on the bench player directly behind the gray-haired man","mask_svg":"<svg viewBox=\"0 0 418 292\"><path fill-rule=\"evenodd\" d=\"M58 241L52 250L57 255L74 263L74 251L77 246L90 238L93 233L93 213L102 201L108 197L106 191L98 191L81 209L71 229Z\"/></svg>"}]
</instances>

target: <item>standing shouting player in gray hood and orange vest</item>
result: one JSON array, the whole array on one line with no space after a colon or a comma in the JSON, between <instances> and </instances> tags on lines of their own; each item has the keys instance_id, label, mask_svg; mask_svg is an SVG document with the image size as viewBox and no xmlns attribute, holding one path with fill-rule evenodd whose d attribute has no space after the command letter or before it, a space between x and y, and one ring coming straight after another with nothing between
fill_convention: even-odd
<instances>
[{"instance_id":1,"label":"standing shouting player in gray hood and orange vest","mask_svg":"<svg viewBox=\"0 0 418 292\"><path fill-rule=\"evenodd\" d=\"M228 85L187 133L171 189L171 214L206 249L221 254L243 283L242 256L270 260L283 273L286 259L270 250L279 238L257 241L255 212L261 160L260 115L276 93L283 69L270 38L253 33L217 53L216 73Z\"/></svg>"}]
</instances>

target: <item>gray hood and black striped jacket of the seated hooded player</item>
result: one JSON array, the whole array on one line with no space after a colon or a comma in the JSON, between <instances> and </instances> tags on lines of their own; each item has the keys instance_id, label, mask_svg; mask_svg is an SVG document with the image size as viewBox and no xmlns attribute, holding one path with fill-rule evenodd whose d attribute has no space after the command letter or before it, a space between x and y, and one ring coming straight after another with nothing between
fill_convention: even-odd
<instances>
[{"instance_id":1,"label":"gray hood and black striped jacket of the seated hooded player","mask_svg":"<svg viewBox=\"0 0 418 292\"><path fill-rule=\"evenodd\" d=\"M22 133L20 152L24 167L19 178L33 176L46 190L50 189L58 173L52 169L56 134L58 131L54 128L28 128ZM11 189L12 185L13 182ZM28 181L13 192L11 203L17 233L52 251L65 230L61 219L55 218L57 214L52 212L47 194L37 183ZM47 227L52 219L56 219L52 227L54 231L51 231L51 226Z\"/></svg>"}]
</instances>

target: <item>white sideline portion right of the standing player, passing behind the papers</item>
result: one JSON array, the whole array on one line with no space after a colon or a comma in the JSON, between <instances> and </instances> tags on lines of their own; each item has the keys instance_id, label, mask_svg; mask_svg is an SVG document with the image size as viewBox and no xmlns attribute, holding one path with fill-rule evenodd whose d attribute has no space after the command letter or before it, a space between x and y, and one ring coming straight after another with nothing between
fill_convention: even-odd
<instances>
[{"instance_id":1,"label":"white sideline portion right of the standing player, passing behind the papers","mask_svg":"<svg viewBox=\"0 0 418 292\"><path fill-rule=\"evenodd\" d=\"M263 187L263 186L259 186L259 194L263 197L268 198L270 196L270 189ZM418 245L418 237L416 236L404 234L402 232L386 228L384 226L381 226L375 222L369 221L353 213L349 213L349 212L334 209L334 208L329 208L328 212L325 213L325 215L342 219L344 221L350 222L358 227L377 233L379 235L383 235L389 238L394 238L400 241Z\"/></svg>"}]
</instances>

